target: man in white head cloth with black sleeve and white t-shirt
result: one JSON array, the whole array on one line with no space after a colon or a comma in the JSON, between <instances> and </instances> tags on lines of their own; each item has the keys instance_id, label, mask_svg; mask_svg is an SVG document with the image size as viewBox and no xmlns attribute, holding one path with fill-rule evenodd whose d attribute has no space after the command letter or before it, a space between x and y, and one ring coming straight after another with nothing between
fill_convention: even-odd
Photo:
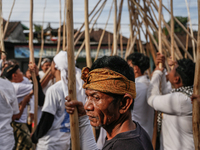
<instances>
[{"instance_id":1,"label":"man in white head cloth with black sleeve and white t-shirt","mask_svg":"<svg viewBox=\"0 0 200 150\"><path fill-rule=\"evenodd\" d=\"M82 88L81 71L76 68L76 94L77 99L85 101L85 93ZM37 150L68 150L70 149L70 118L65 110L65 97L68 95L68 62L67 52L60 51L53 59L51 73L56 83L48 88L42 117L32 135L32 141L37 143ZM95 149L95 141L92 128L86 116L79 120L81 148L83 150ZM87 142L89 144L85 146ZM92 141L93 144L90 144Z\"/></svg>"}]
</instances>

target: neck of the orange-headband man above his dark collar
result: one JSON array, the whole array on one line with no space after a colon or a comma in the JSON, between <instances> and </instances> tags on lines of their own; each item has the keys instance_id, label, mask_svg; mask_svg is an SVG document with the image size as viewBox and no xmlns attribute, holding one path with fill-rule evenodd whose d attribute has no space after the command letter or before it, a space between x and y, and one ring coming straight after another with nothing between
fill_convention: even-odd
<instances>
[{"instance_id":1,"label":"neck of the orange-headband man above his dark collar","mask_svg":"<svg viewBox=\"0 0 200 150\"><path fill-rule=\"evenodd\" d=\"M127 131L136 129L136 124L131 119L131 113L130 113L130 115L128 114L126 116L120 117L117 120L117 122L115 122L113 124L104 127L104 129L107 132L108 140L111 140L119 133L123 133L123 132L127 132Z\"/></svg>"}]
</instances>

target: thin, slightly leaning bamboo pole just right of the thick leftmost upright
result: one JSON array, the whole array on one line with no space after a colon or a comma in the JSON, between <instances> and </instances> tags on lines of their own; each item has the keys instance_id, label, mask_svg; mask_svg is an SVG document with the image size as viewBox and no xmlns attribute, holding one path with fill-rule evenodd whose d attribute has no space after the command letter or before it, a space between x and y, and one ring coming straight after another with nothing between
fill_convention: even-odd
<instances>
[{"instance_id":1,"label":"thin, slightly leaning bamboo pole just right of the thick leftmost upright","mask_svg":"<svg viewBox=\"0 0 200 150\"><path fill-rule=\"evenodd\" d=\"M38 69L40 69L43 50L44 50L44 13L45 13L45 8L46 8L46 3L47 3L47 0L45 0L44 9L43 9L42 31L41 31L41 40L42 40L42 42L41 42L41 50L40 50L40 59L39 59L39 62L38 62Z\"/></svg>"}]
</instances>

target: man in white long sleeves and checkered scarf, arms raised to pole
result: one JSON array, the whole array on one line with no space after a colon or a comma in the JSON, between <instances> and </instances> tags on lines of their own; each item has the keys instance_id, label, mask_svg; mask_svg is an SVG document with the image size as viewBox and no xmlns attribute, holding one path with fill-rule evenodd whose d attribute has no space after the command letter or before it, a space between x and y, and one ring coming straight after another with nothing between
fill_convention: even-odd
<instances>
[{"instance_id":1,"label":"man in white long sleeves and checkered scarf, arms raised to pole","mask_svg":"<svg viewBox=\"0 0 200 150\"><path fill-rule=\"evenodd\" d=\"M192 131L192 104L195 64L190 59L181 59L174 63L168 73L173 89L168 91L164 68L164 56L157 53L157 65L148 89L148 103L161 111L161 150L194 149ZM161 83L161 92L160 92ZM162 94L161 94L162 93Z\"/></svg>"}]
</instances>

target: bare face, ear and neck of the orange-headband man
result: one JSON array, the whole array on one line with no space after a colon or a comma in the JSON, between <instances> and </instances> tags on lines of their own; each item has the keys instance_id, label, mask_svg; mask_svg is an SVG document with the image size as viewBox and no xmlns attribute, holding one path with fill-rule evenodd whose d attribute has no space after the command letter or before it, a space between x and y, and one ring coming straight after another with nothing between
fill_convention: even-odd
<instances>
[{"instance_id":1,"label":"bare face, ear and neck of the orange-headband man","mask_svg":"<svg viewBox=\"0 0 200 150\"><path fill-rule=\"evenodd\" d=\"M133 102L129 94L125 94L117 103L113 103L113 97L96 90L86 89L86 96L84 109L90 123L94 127L102 126L107 131L108 140L136 128L129 110Z\"/></svg>"}]
</instances>

